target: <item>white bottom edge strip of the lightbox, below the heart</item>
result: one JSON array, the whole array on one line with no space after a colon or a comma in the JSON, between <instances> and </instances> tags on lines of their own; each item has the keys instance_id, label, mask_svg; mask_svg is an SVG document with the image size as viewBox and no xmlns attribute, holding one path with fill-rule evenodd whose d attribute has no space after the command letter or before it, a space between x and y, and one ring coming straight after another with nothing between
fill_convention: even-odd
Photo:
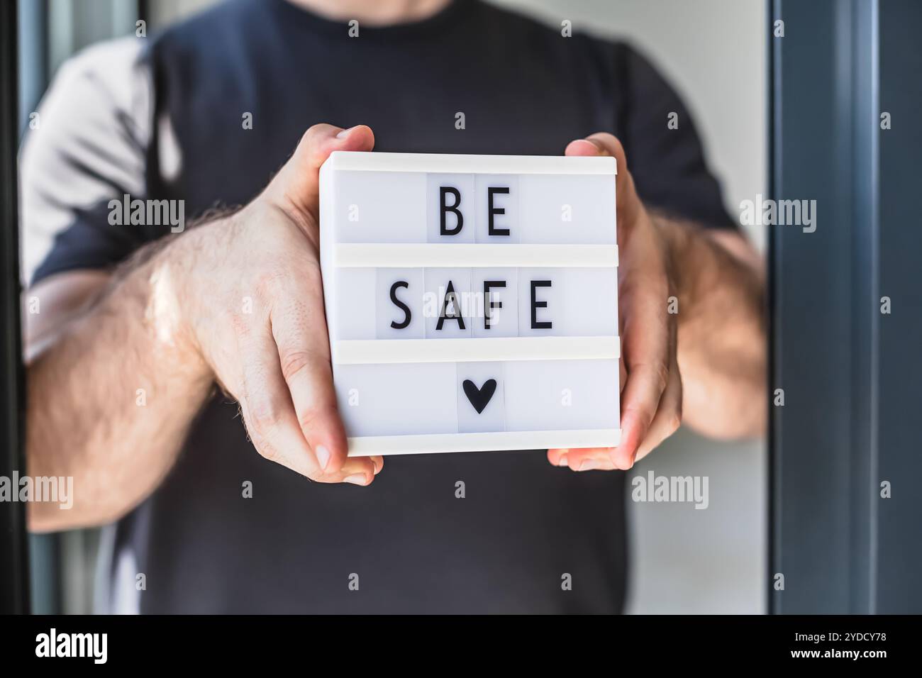
<instances>
[{"instance_id":1,"label":"white bottom edge strip of the lightbox, below the heart","mask_svg":"<svg viewBox=\"0 0 922 678\"><path fill-rule=\"evenodd\" d=\"M430 452L492 452L509 449L617 447L621 429L500 431L485 434L369 435L349 438L349 457Z\"/></svg>"}]
</instances>

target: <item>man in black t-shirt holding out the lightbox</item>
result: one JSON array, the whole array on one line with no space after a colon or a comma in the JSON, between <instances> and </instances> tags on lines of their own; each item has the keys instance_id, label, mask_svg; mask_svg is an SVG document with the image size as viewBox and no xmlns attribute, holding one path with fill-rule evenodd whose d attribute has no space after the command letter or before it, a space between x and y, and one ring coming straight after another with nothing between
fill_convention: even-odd
<instances>
[{"instance_id":1,"label":"man in black t-shirt holding out the lightbox","mask_svg":"<svg viewBox=\"0 0 922 678\"><path fill-rule=\"evenodd\" d=\"M41 120L27 447L75 498L30 524L117 521L118 609L618 612L620 470L682 413L718 437L764 427L758 257L686 109L624 44L476 0L232 0L77 56ZM372 149L617 159L621 446L346 458L317 173ZM180 233L112 225L124 195L222 209Z\"/></svg>"}]
</instances>

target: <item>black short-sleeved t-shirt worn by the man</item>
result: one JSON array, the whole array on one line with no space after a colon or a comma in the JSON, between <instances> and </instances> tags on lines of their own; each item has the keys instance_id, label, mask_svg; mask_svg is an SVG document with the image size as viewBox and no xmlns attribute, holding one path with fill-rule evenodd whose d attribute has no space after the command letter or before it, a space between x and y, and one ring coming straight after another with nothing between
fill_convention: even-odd
<instances>
[{"instance_id":1,"label":"black short-sleeved t-shirt worn by the man","mask_svg":"<svg viewBox=\"0 0 922 678\"><path fill-rule=\"evenodd\" d=\"M112 267L168 231L110 225L112 197L182 198L187 218L245 204L318 122L427 153L560 155L612 132L648 204L732 227L686 109L640 55L475 0L354 38L284 0L231 0L78 56L42 110L59 125L24 153L33 280ZM613 613L624 500L621 471L552 468L540 450L387 458L367 488L308 482L256 454L219 396L118 523L112 576L136 591L145 575L145 613Z\"/></svg>"}]
</instances>

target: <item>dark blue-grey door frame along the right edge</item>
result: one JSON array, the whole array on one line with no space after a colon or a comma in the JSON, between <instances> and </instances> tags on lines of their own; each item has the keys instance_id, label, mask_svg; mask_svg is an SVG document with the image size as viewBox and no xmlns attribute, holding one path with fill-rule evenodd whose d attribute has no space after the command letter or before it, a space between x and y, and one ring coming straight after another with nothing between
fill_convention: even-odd
<instances>
[{"instance_id":1,"label":"dark blue-grey door frame along the right edge","mask_svg":"<svg viewBox=\"0 0 922 678\"><path fill-rule=\"evenodd\" d=\"M817 201L769 235L769 611L918 613L922 5L768 5L770 195Z\"/></svg>"}]
</instances>

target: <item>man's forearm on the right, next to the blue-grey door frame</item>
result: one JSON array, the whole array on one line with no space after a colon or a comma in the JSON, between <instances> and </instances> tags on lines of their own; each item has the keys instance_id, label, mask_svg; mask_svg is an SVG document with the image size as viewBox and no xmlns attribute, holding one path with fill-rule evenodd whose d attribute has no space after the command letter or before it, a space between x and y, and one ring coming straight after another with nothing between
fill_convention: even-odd
<instances>
[{"instance_id":1,"label":"man's forearm on the right, next to the blue-grey door frame","mask_svg":"<svg viewBox=\"0 0 922 678\"><path fill-rule=\"evenodd\" d=\"M657 217L678 296L682 418L718 438L763 434L767 340L761 259L739 234Z\"/></svg>"}]
</instances>

